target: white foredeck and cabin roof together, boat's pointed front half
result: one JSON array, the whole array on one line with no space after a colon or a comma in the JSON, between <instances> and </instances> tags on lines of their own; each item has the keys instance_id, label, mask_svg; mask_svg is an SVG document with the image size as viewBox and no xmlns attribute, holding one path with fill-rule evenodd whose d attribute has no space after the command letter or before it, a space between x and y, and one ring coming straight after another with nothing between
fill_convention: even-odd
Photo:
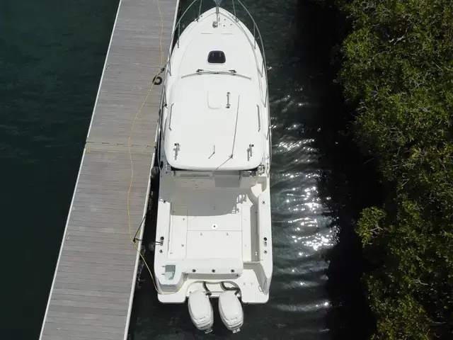
<instances>
[{"instance_id":1,"label":"white foredeck and cabin roof together, boat's pointed front half","mask_svg":"<svg viewBox=\"0 0 453 340\"><path fill-rule=\"evenodd\" d=\"M164 152L176 169L255 169L268 145L267 80L253 35L220 9L180 35L166 74ZM213 51L224 60L209 62ZM216 52L216 53L217 53Z\"/></svg>"}]
</instances>

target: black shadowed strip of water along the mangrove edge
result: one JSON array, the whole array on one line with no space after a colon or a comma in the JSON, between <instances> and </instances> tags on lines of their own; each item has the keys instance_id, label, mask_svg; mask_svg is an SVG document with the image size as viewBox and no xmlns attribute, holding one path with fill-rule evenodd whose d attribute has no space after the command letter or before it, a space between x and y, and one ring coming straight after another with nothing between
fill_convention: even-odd
<instances>
[{"instance_id":1,"label":"black shadowed strip of water along the mangrove edge","mask_svg":"<svg viewBox=\"0 0 453 340\"><path fill-rule=\"evenodd\" d=\"M348 132L354 108L344 103L334 81L341 67L340 44L348 24L331 1L299 0L297 39L311 93L319 103L313 132L319 152L319 196L336 229L336 243L325 254L330 307L324 321L331 339L367 339L374 319L360 283L367 263L354 232L360 211L382 200L377 164L360 153ZM316 34L314 34L316 33Z\"/></svg>"}]
</instances>

